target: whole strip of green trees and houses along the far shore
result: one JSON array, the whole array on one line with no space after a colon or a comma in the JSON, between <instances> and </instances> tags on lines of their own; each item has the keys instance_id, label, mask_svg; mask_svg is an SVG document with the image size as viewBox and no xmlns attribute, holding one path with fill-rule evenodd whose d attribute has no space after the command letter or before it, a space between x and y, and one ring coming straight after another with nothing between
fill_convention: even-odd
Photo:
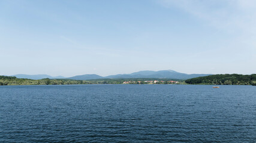
<instances>
[{"instance_id":1,"label":"whole strip of green trees and houses along the far shore","mask_svg":"<svg viewBox=\"0 0 256 143\"><path fill-rule=\"evenodd\" d=\"M132 78L132 79L19 79L14 76L0 76L1 85L91 85L91 84L175 84L175 85L254 85L256 74L215 74L195 77L187 80L158 79L158 78Z\"/></svg>"}]
</instances>

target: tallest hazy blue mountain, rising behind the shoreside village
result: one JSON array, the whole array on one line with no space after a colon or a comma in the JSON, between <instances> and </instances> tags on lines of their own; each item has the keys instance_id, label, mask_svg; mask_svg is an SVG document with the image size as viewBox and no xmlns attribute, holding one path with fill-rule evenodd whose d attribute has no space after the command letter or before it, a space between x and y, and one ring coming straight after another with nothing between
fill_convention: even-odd
<instances>
[{"instance_id":1,"label":"tallest hazy blue mountain, rising behind the shoreside village","mask_svg":"<svg viewBox=\"0 0 256 143\"><path fill-rule=\"evenodd\" d=\"M138 71L131 74L116 74L112 76L106 76L105 78L165 78L165 79L191 79L200 76L209 76L210 74L185 74L179 73L174 70L160 70L160 71Z\"/></svg>"}]
</instances>

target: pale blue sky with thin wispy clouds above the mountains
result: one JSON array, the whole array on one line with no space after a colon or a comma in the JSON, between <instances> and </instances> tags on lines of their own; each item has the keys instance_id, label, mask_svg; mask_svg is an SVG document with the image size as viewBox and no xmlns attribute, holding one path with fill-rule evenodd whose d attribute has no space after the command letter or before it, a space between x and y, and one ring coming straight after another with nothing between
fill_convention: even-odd
<instances>
[{"instance_id":1,"label":"pale blue sky with thin wispy clouds above the mountains","mask_svg":"<svg viewBox=\"0 0 256 143\"><path fill-rule=\"evenodd\" d=\"M254 0L0 0L0 75L256 73Z\"/></svg>"}]
</instances>

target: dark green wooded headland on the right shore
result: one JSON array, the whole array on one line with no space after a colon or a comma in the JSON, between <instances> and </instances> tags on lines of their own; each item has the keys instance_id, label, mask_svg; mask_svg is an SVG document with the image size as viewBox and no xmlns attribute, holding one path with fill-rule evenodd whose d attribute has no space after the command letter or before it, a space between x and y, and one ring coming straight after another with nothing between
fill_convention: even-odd
<instances>
[{"instance_id":1,"label":"dark green wooded headland on the right shore","mask_svg":"<svg viewBox=\"0 0 256 143\"><path fill-rule=\"evenodd\" d=\"M253 85L253 81L256 81L256 74L215 74L185 80L188 84L207 85Z\"/></svg>"}]
</instances>

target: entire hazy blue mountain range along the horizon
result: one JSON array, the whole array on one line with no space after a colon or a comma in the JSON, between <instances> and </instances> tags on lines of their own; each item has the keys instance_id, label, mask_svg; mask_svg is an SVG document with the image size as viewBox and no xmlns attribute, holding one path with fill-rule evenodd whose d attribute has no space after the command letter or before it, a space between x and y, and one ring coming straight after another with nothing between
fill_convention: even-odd
<instances>
[{"instance_id":1,"label":"entire hazy blue mountain range along the horizon","mask_svg":"<svg viewBox=\"0 0 256 143\"><path fill-rule=\"evenodd\" d=\"M194 77L200 76L209 76L210 74L186 74L179 73L174 70L160 70L160 71L138 71L131 74L116 74L111 76L99 76L97 74L83 74L80 76L73 77L63 77L56 76L52 77L47 74L37 74L37 75L27 75L27 74L16 74L17 78L26 78L26 79L74 79L74 80L90 80L90 79L125 79L125 78L165 78L165 79L191 79Z\"/></svg>"}]
</instances>

